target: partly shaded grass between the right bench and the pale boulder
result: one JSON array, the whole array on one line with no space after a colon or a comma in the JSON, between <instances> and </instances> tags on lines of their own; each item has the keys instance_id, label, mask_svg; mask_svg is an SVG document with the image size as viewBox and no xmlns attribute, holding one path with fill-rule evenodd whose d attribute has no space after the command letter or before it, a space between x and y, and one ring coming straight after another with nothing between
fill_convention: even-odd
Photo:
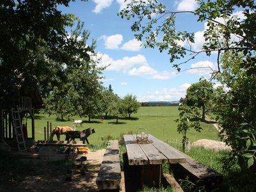
<instances>
[{"instance_id":1,"label":"partly shaded grass between the right bench and the pale boulder","mask_svg":"<svg viewBox=\"0 0 256 192\"><path fill-rule=\"evenodd\" d=\"M223 175L223 182L214 191L255 191L255 173L243 172L237 161L229 158L230 152L192 147L186 154ZM189 181L183 181L183 184L186 184L188 188L189 185L196 186ZM204 188L198 187L199 189L204 191Z\"/></svg>"}]
</instances>

